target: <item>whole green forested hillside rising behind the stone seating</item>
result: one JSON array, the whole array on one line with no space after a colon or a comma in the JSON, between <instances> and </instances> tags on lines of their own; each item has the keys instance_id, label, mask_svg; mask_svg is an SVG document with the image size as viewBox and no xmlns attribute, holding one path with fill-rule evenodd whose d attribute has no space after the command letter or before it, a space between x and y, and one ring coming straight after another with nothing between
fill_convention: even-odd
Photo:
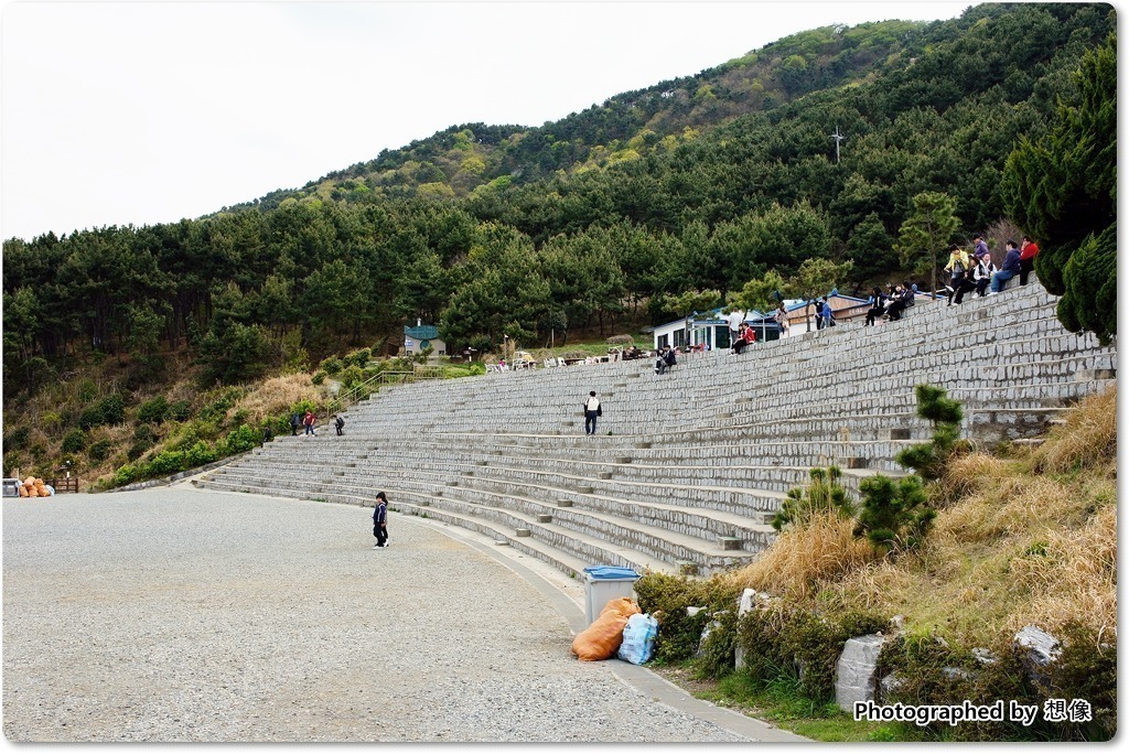
<instances>
[{"instance_id":1,"label":"whole green forested hillside rising behind the stone seating","mask_svg":"<svg viewBox=\"0 0 1129 754\"><path fill-rule=\"evenodd\" d=\"M84 394L129 414L131 392L189 371L216 386L393 353L417 318L488 352L504 334L536 345L663 322L751 281L798 290L808 260L828 262L829 288L927 280L936 248L901 236L926 192L955 218L938 244L1045 230L1067 249L1047 254L1054 292L1089 296L1061 271L1079 247L1108 260L1113 236L1054 218L1085 207L1089 231L1115 228L1113 27L1105 5L1031 3L813 29L540 128L453 126L208 217L6 240L5 467L9 450L58 462L47 440L9 441L12 410L107 357L126 377ZM1113 67L1087 85L1079 61L1103 45ZM1096 131L1070 115L1087 107ZM1060 166L1067 137L1082 141ZM1102 177L1036 185L1049 165Z\"/></svg>"}]
</instances>

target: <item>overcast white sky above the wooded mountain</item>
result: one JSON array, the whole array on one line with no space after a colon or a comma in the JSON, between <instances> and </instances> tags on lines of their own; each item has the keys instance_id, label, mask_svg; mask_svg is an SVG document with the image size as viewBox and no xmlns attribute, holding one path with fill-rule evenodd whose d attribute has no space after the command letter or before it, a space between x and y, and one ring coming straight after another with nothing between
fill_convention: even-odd
<instances>
[{"instance_id":1,"label":"overcast white sky above the wooded mountain","mask_svg":"<svg viewBox=\"0 0 1129 754\"><path fill-rule=\"evenodd\" d=\"M195 218L449 125L541 125L795 32L970 5L6 0L0 236Z\"/></svg>"}]
</instances>

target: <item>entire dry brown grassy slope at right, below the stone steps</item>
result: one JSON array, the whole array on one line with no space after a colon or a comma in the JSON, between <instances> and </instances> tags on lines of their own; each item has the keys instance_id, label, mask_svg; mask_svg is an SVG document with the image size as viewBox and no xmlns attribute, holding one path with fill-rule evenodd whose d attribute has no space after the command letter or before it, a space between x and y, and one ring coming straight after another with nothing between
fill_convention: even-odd
<instances>
[{"instance_id":1,"label":"entire dry brown grassy slope at right, below the stone steps","mask_svg":"<svg viewBox=\"0 0 1129 754\"><path fill-rule=\"evenodd\" d=\"M730 578L824 611L901 614L966 642L1069 621L1115 631L1114 411L1111 391L1079 404L1029 458L955 459L939 484L952 502L919 551L879 560L851 521L824 515Z\"/></svg>"}]
</instances>

